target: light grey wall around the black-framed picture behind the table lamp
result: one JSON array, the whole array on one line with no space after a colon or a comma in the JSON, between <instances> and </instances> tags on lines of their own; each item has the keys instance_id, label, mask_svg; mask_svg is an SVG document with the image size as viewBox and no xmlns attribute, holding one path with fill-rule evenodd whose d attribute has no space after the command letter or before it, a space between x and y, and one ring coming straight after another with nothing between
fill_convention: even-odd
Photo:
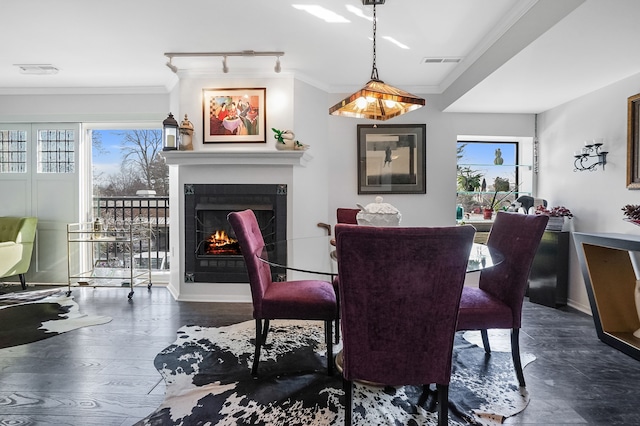
<instances>
[{"instance_id":1,"label":"light grey wall around the black-framed picture behind the table lamp","mask_svg":"<svg viewBox=\"0 0 640 426\"><path fill-rule=\"evenodd\" d=\"M343 96L331 96L325 108ZM389 194L384 202L402 213L403 226L445 226L455 223L456 207L456 142L458 135L532 137L534 116L527 114L459 114L438 109L439 96L427 95L423 108L379 124L426 124L427 126L427 193ZM338 207L355 207L374 201L375 195L358 195L357 189L357 125L372 120L329 117L326 143L331 154L328 207L331 223L335 223Z\"/></svg>"}]
</instances>

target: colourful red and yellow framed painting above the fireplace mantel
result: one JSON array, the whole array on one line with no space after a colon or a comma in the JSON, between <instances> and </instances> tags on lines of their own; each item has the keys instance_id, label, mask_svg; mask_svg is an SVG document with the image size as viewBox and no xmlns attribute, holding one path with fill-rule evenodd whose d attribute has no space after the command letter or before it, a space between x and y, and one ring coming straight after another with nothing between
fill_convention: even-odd
<instances>
[{"instance_id":1,"label":"colourful red and yellow framed painting above the fireplace mantel","mask_svg":"<svg viewBox=\"0 0 640 426\"><path fill-rule=\"evenodd\" d=\"M203 142L265 143L265 98L265 88L203 89Z\"/></svg>"}]
</instances>

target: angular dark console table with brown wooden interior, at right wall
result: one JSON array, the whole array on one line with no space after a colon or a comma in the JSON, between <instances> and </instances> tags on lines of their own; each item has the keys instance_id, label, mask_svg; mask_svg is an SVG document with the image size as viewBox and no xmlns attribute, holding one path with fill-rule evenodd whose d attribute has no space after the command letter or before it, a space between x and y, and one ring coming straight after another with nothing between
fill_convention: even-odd
<instances>
[{"instance_id":1,"label":"angular dark console table with brown wooden interior, at right wall","mask_svg":"<svg viewBox=\"0 0 640 426\"><path fill-rule=\"evenodd\" d=\"M573 233L598 338L640 360L640 328L629 252L640 252L640 236Z\"/></svg>"}]
</instances>

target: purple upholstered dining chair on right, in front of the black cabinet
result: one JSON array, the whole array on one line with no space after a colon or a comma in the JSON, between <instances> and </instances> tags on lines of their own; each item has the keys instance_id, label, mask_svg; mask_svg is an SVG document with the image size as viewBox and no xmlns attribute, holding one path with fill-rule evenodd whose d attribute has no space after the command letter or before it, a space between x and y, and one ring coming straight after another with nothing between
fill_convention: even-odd
<instances>
[{"instance_id":1,"label":"purple upholstered dining chair on right, in front of the black cabinet","mask_svg":"<svg viewBox=\"0 0 640 426\"><path fill-rule=\"evenodd\" d=\"M519 338L522 302L548 220L544 215L498 212L487 245L500 251L504 261L480 272L479 287L465 287L460 300L458 330L480 330L486 353L491 353L487 329L511 330L511 357L523 387Z\"/></svg>"}]
</instances>

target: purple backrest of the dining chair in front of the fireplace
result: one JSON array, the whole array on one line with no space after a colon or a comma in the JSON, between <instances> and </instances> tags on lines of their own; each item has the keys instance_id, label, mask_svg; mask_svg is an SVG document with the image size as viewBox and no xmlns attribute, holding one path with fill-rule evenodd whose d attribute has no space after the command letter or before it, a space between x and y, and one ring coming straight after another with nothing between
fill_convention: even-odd
<instances>
[{"instance_id":1,"label":"purple backrest of the dining chair in front of the fireplace","mask_svg":"<svg viewBox=\"0 0 640 426\"><path fill-rule=\"evenodd\" d=\"M271 284L271 267L260 261L256 255L264 248L262 231L253 210L231 212L228 215L228 220L236 234L244 263L247 266L253 299L253 316L254 318L262 318L262 298Z\"/></svg>"}]
</instances>

